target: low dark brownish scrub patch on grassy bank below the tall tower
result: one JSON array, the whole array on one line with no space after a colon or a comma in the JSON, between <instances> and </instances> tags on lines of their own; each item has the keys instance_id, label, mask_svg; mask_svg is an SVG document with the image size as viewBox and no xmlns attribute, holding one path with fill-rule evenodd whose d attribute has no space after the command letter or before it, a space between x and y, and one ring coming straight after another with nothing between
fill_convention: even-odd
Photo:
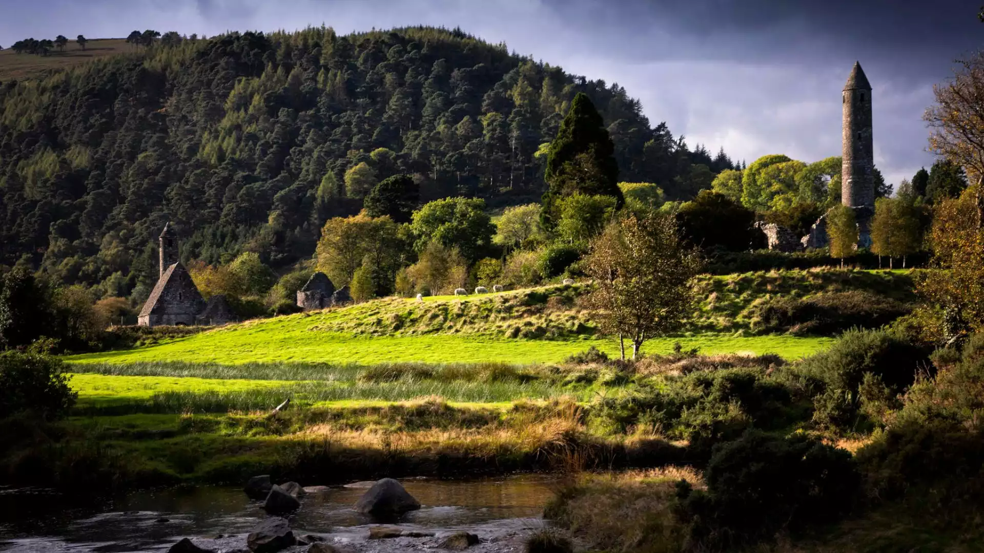
<instances>
[{"instance_id":1,"label":"low dark brownish scrub patch on grassy bank below the tall tower","mask_svg":"<svg viewBox=\"0 0 984 553\"><path fill-rule=\"evenodd\" d=\"M879 328L911 311L906 304L865 290L825 292L805 299L770 297L750 309L761 333L830 335L851 327Z\"/></svg>"}]
</instances>

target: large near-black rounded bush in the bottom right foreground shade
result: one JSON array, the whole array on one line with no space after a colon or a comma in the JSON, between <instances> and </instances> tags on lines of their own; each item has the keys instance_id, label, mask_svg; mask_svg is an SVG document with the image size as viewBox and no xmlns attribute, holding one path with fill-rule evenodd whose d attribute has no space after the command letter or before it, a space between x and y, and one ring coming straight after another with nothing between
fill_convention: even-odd
<instances>
[{"instance_id":1,"label":"large near-black rounded bush in the bottom right foreground shade","mask_svg":"<svg viewBox=\"0 0 984 553\"><path fill-rule=\"evenodd\" d=\"M678 517L690 524L694 549L730 550L838 520L853 507L861 477L844 450L749 431L714 448L705 480L707 491L678 485Z\"/></svg>"}]
</instances>

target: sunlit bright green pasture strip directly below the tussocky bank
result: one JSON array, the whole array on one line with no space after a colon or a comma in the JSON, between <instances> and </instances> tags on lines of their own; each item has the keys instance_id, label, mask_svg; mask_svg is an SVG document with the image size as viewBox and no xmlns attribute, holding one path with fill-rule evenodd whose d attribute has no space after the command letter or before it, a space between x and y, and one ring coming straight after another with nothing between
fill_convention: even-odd
<instances>
[{"instance_id":1,"label":"sunlit bright green pasture strip directly below the tussocky bank","mask_svg":"<svg viewBox=\"0 0 984 553\"><path fill-rule=\"evenodd\" d=\"M495 339L476 336L357 337L307 331L295 324L296 316L233 326L227 329L180 338L169 343L123 351L87 353L67 357L75 363L133 363L138 361L188 362L326 362L376 364L397 361L428 363L505 362L550 363L586 350L593 345L609 355L618 354L614 340ZM776 353L797 359L819 351L831 338L791 336L733 337L700 335L654 338L644 351L667 353L676 342L685 348L699 347L703 353Z\"/></svg>"}]
</instances>

